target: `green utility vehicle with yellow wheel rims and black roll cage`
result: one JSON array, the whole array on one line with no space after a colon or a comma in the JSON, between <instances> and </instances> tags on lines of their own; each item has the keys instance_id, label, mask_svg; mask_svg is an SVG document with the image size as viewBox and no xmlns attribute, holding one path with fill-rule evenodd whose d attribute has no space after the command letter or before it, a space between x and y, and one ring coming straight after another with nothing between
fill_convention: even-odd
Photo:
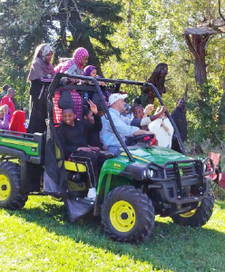
<instances>
[{"instance_id":1,"label":"green utility vehicle with yellow wheel rims and black roll cage","mask_svg":"<svg viewBox=\"0 0 225 272\"><path fill-rule=\"evenodd\" d=\"M88 92L90 98L93 93L98 95L100 108L122 145L122 153L118 157L107 153L109 159L103 164L94 203L84 199L87 194L85 166L65 161L60 142L55 136L58 124L54 121L54 92L64 92L58 84L65 76L81 79L87 84L65 85L63 89L75 89L82 97L84 92ZM136 244L150 236L155 215L171 217L174 223L183 226L201 227L206 224L213 208L207 178L211 173L207 172L207 166L210 164L213 168L212 161L209 158L197 160L186 157L180 134L169 112L166 114L180 141L183 154L150 145L152 138L146 139L146 135L134 138L133 145L126 146L114 127L98 81L117 86L151 85L163 105L159 92L151 83L57 73L46 97L47 133L18 135L18 132L0 131L0 207L22 209L27 196L32 193L70 199L73 203L79 203L80 206L75 206L77 209L85 206L89 211L93 209L94 216L101 215L104 231L109 238ZM50 145L49 139L52 142ZM50 168L46 165L51 152L58 169L54 169L54 164ZM60 177L59 182L56 182L57 189L52 191L43 189L47 168L50 169L48 173ZM62 172L67 177L66 182Z\"/></svg>"}]
</instances>

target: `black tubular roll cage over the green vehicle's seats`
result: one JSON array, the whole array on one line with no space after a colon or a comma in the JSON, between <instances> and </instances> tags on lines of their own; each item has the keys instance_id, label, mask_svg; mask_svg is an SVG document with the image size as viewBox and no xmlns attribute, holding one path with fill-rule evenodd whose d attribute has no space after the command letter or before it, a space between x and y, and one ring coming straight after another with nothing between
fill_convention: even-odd
<instances>
[{"instance_id":1,"label":"black tubular roll cage over the green vehicle's seats","mask_svg":"<svg viewBox=\"0 0 225 272\"><path fill-rule=\"evenodd\" d=\"M64 86L59 86L59 82L61 81L61 79L63 77L66 77L66 78L74 78L74 79L80 79L81 81L84 81L84 82L92 82L93 85L84 85L84 84L73 84L73 85L64 85ZM101 88L98 84L98 82L104 82L104 83L119 83L119 84L131 84L131 85L138 85L138 86L151 86L153 91L155 92L155 95L156 97L158 98L159 102L161 103L161 106L164 105L164 103L162 102L162 99L161 99L161 95L160 93L158 92L158 90L156 89L156 87L152 84L152 83L142 83L142 82L134 82L134 81L128 81L128 80L112 80L112 79L106 79L106 78L93 78L93 77L90 77L90 76L83 76L83 75L71 75L71 74L68 74L68 73L56 73L55 76L54 76L54 80L53 82L50 84L49 88L48 88L48 92L47 92L47 102L48 102L48 114L50 112L50 107L52 107L52 102L51 102L51 99L53 98L54 96L54 91L55 89L58 89L58 88L62 88L62 89L72 89L71 86L74 87L75 90L87 90L87 91L97 91L98 92L98 95L100 97L100 101L102 103L102 106L103 106L103 112L104 114L106 115L107 119L109 120L111 126L112 126L112 131L115 133L118 141L120 141L121 145L122 145L122 148L124 149L124 151L126 152L129 160L131 161L135 161L133 158L132 158L132 154L130 153L130 151L128 150L127 146L125 145L125 143L122 141L122 138L120 136L120 134L118 133L118 131L116 131L115 129L115 126L114 126L114 123L112 121L112 117L111 117L111 114L104 102L104 98L103 98L103 93L101 91ZM181 135L177 129L177 126L175 124L175 122L172 120L171 118L171 115L168 111L165 112L167 117L169 118L169 120L171 121L171 125L173 126L174 128L174 131L176 133L176 136L177 136L177 139L179 141L179 144L181 146L181 151L182 153L186 156L186 151L184 149L184 146L183 146L183 142L181 141Z\"/></svg>"}]
</instances>

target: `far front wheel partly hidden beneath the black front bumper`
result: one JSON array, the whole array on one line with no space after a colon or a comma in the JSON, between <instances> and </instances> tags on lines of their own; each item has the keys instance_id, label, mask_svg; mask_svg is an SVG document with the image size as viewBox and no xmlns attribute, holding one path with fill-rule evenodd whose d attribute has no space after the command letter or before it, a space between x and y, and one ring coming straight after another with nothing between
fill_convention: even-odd
<instances>
[{"instance_id":1,"label":"far front wheel partly hidden beneath the black front bumper","mask_svg":"<svg viewBox=\"0 0 225 272\"><path fill-rule=\"evenodd\" d=\"M200 206L184 214L171 216L174 223L192 228L204 226L211 217L214 199L211 194L201 200Z\"/></svg>"}]
</instances>

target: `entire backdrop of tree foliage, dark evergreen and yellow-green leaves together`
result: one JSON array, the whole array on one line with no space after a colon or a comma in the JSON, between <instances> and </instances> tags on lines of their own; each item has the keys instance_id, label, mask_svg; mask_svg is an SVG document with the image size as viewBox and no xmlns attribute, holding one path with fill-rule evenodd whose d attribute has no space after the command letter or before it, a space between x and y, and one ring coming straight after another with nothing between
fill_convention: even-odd
<instances>
[{"instance_id":1,"label":"entire backdrop of tree foliage, dark evergreen and yellow-green leaves together","mask_svg":"<svg viewBox=\"0 0 225 272\"><path fill-rule=\"evenodd\" d=\"M222 14L224 6L221 0ZM0 83L12 83L24 98L34 47L43 42L54 45L54 63L77 46L87 47L89 63L109 78L146 81L158 63L167 63L170 80L163 100L170 112L179 97L187 100L189 139L213 138L213 131L224 139L225 34L212 36L206 46L204 98L182 36L184 28L220 18L218 8L217 1L204 0L2 1ZM139 87L124 91L130 102L141 94ZM201 100L205 108L198 112Z\"/></svg>"}]
</instances>

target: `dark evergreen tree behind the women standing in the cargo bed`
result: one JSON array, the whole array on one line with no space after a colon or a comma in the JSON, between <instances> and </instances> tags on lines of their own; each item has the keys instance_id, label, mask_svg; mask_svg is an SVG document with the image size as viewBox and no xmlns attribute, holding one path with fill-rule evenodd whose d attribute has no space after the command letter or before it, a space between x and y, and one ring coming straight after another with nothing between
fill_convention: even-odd
<instances>
[{"instance_id":1,"label":"dark evergreen tree behind the women standing in the cargo bed","mask_svg":"<svg viewBox=\"0 0 225 272\"><path fill-rule=\"evenodd\" d=\"M120 58L120 50L108 36L122 21L121 9L122 5L109 0L0 2L1 81L24 90L34 48L41 43L54 45L54 63L59 56L71 57L75 48L86 47L90 63L102 74L101 62L113 54Z\"/></svg>"}]
</instances>

